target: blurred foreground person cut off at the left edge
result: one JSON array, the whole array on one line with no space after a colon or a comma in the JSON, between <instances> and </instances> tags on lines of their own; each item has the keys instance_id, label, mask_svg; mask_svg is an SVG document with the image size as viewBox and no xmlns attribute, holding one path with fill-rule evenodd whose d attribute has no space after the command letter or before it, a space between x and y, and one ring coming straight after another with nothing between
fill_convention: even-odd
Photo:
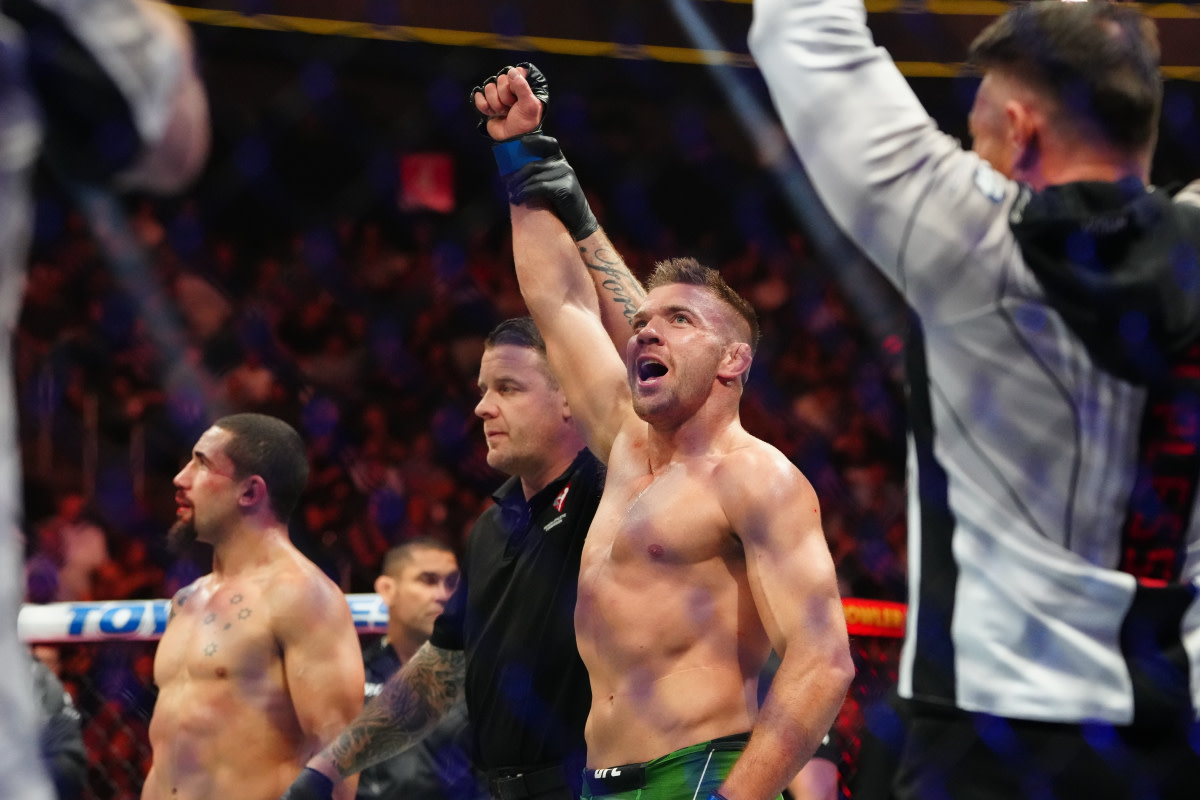
<instances>
[{"instance_id":1,"label":"blurred foreground person cut off at the left edge","mask_svg":"<svg viewBox=\"0 0 1200 800\"><path fill-rule=\"evenodd\" d=\"M164 4L5 2L0 52L0 798L50 800L29 655L17 637L24 582L10 337L32 234L34 167L44 155L76 184L174 192L200 172L210 132L191 35Z\"/></svg>"}]
</instances>

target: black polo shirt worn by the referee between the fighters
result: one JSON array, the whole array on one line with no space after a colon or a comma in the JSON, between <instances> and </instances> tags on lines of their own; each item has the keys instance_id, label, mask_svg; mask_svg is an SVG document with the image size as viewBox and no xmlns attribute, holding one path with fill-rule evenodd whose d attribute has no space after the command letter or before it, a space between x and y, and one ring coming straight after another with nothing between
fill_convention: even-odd
<instances>
[{"instance_id":1,"label":"black polo shirt worn by the referee between the fighters","mask_svg":"<svg viewBox=\"0 0 1200 800\"><path fill-rule=\"evenodd\" d=\"M575 597L604 475L583 450L528 504L510 479L467 540L458 591L430 642L466 652L467 709L487 771L563 764L578 781L583 769L592 692Z\"/></svg>"}]
</instances>

